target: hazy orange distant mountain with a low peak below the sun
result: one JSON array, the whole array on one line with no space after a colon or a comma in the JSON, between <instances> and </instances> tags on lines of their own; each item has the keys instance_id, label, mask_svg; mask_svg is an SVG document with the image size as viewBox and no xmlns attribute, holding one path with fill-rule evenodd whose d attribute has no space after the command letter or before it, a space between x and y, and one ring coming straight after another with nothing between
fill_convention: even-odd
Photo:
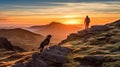
<instances>
[{"instance_id":1,"label":"hazy orange distant mountain with a low peak below the sun","mask_svg":"<svg viewBox=\"0 0 120 67\"><path fill-rule=\"evenodd\" d=\"M66 36L72 32L76 32L82 29L82 25L65 25L58 22L52 22L47 25L31 26L30 31L39 33L42 35L51 34L57 39L65 39Z\"/></svg>"}]
</instances>

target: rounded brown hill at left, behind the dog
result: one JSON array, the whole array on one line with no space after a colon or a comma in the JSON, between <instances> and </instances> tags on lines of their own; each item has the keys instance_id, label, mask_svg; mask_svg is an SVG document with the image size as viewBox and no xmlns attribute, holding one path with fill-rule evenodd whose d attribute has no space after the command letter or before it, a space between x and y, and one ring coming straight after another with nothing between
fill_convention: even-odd
<instances>
[{"instance_id":1,"label":"rounded brown hill at left, behind the dog","mask_svg":"<svg viewBox=\"0 0 120 67\"><path fill-rule=\"evenodd\" d=\"M40 34L35 34L20 28L0 29L0 37L7 38L14 46L19 46L25 50L37 48L45 38Z\"/></svg>"}]
</instances>

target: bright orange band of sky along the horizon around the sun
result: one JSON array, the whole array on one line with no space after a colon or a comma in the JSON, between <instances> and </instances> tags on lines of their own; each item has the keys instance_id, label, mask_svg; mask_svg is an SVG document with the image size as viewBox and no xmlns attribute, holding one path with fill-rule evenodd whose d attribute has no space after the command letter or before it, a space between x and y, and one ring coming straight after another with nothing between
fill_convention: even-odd
<instances>
[{"instance_id":1,"label":"bright orange band of sky along the horizon around the sun","mask_svg":"<svg viewBox=\"0 0 120 67\"><path fill-rule=\"evenodd\" d=\"M102 14L101 14L102 15ZM68 15L70 16L70 15ZM108 15L109 16L109 15ZM91 16L91 24L105 24L118 20L119 17L94 17ZM33 24L44 25L52 21L61 22L63 24L83 24L84 17L61 17L61 18L44 18L44 17L7 17L7 19L1 20L1 24Z\"/></svg>"}]
</instances>

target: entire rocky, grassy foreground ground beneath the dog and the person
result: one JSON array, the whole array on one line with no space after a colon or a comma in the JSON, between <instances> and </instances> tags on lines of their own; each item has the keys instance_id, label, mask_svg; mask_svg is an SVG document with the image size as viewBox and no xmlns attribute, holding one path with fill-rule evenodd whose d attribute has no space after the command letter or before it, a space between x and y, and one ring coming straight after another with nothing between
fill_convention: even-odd
<instances>
[{"instance_id":1,"label":"entire rocky, grassy foreground ground beneath the dog and the person","mask_svg":"<svg viewBox=\"0 0 120 67\"><path fill-rule=\"evenodd\" d=\"M120 20L72 33L43 52L8 50L5 42L0 40L0 67L120 67Z\"/></svg>"}]
</instances>

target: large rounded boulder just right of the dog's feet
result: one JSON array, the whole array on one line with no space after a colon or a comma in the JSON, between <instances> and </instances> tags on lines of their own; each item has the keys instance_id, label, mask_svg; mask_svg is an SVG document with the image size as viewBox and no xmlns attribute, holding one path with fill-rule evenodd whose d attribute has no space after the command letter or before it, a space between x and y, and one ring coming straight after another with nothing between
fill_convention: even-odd
<instances>
[{"instance_id":1,"label":"large rounded boulder just right of the dog's feet","mask_svg":"<svg viewBox=\"0 0 120 67\"><path fill-rule=\"evenodd\" d=\"M66 63L66 55L71 51L71 49L66 47L61 47L59 45L52 46L49 50L44 50L40 53L40 57L44 60L49 60L55 63Z\"/></svg>"}]
</instances>

